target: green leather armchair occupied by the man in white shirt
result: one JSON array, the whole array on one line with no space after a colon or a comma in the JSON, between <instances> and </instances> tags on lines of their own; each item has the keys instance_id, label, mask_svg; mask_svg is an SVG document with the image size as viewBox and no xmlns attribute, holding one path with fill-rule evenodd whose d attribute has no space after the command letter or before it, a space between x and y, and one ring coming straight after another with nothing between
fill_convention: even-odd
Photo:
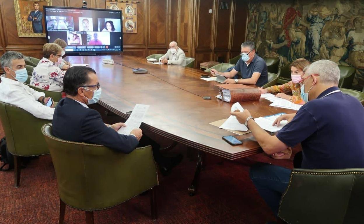
<instances>
[{"instance_id":1,"label":"green leather armchair occupied by the man in white shirt","mask_svg":"<svg viewBox=\"0 0 364 224\"><path fill-rule=\"evenodd\" d=\"M49 154L41 127L51 121L36 118L19 107L3 102L0 102L0 119L8 151L14 155L14 185L19 187L21 156Z\"/></svg>"}]
</instances>

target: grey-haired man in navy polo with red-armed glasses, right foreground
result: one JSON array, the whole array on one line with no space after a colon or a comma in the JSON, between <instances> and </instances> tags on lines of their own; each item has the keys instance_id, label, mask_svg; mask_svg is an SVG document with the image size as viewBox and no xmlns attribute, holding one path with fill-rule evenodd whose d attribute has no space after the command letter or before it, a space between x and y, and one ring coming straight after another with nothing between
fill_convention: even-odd
<instances>
[{"instance_id":1,"label":"grey-haired man in navy polo with red-armed glasses, right foreground","mask_svg":"<svg viewBox=\"0 0 364 224\"><path fill-rule=\"evenodd\" d=\"M313 62L301 86L301 97L307 103L296 114L277 118L274 125L282 120L289 123L276 136L261 129L248 110L232 115L249 127L269 155L301 143L302 168L364 168L364 108L356 98L339 90L339 78L340 70L335 62ZM250 169L255 187L276 215L290 172L290 169L266 163L258 163Z\"/></svg>"}]
</instances>

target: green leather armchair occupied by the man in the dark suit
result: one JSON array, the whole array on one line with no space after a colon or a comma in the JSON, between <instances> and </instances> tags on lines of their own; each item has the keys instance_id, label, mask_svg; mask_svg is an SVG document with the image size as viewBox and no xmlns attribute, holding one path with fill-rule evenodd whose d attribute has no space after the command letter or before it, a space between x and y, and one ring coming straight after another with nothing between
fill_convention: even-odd
<instances>
[{"instance_id":1,"label":"green leather armchair occupied by the man in the dark suit","mask_svg":"<svg viewBox=\"0 0 364 224\"><path fill-rule=\"evenodd\" d=\"M86 222L91 224L93 211L124 203L147 190L151 190L152 219L157 219L158 176L151 146L123 154L105 146L56 138L51 124L41 130L56 171L60 224L66 204L86 211Z\"/></svg>"}]
</instances>

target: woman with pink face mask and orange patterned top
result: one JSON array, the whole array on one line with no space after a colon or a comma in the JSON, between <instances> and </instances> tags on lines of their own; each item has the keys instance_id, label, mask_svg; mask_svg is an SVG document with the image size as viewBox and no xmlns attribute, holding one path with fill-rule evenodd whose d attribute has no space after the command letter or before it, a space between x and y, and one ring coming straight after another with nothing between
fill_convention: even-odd
<instances>
[{"instance_id":1,"label":"woman with pink face mask and orange patterned top","mask_svg":"<svg viewBox=\"0 0 364 224\"><path fill-rule=\"evenodd\" d=\"M291 78L292 81L287 82L286 84L279 85L279 86L270 86L266 89L258 88L261 93L278 93L276 97L280 97L283 99L287 99L292 103L296 104L304 104L305 102L301 99L301 90L300 90L300 82L301 77L303 76L304 68L310 64L304 58L298 58L294 60L290 67L291 67ZM285 93L292 92L292 95L287 95Z\"/></svg>"}]
</instances>

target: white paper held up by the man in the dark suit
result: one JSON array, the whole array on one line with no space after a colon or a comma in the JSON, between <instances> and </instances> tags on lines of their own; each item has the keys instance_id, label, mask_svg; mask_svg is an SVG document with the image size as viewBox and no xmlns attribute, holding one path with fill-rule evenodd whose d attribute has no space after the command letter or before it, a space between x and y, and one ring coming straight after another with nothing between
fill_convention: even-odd
<instances>
[{"instance_id":1,"label":"white paper held up by the man in the dark suit","mask_svg":"<svg viewBox=\"0 0 364 224\"><path fill-rule=\"evenodd\" d=\"M142 124L143 118L149 109L149 105L137 104L125 122L126 127L121 127L118 131L122 135L130 135L131 130L137 129Z\"/></svg>"}]
</instances>

